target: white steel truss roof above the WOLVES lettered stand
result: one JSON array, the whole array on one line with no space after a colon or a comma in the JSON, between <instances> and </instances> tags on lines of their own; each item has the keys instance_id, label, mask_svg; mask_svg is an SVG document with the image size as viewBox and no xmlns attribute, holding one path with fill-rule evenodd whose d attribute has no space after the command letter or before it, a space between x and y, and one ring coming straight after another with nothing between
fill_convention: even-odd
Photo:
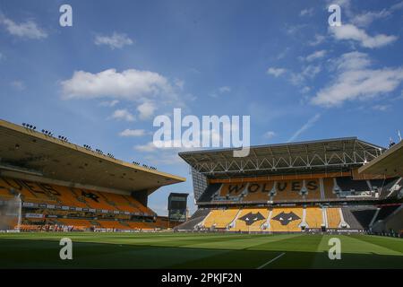
<instances>
[{"instance_id":1,"label":"white steel truss roof above the WOLVES lettered stand","mask_svg":"<svg viewBox=\"0 0 403 287\"><path fill-rule=\"evenodd\" d=\"M210 178L227 178L350 170L372 161L384 148L356 137L343 137L256 145L247 157L239 158L233 156L235 150L239 149L180 152L179 156Z\"/></svg>"}]
</instances>

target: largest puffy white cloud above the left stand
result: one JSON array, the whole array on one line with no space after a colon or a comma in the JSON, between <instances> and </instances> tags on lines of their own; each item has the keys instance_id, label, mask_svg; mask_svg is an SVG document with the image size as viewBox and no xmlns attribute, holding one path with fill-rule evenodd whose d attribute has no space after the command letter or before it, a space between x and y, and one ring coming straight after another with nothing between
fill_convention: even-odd
<instances>
[{"instance_id":1,"label":"largest puffy white cloud above the left stand","mask_svg":"<svg viewBox=\"0 0 403 287\"><path fill-rule=\"evenodd\" d=\"M122 73L108 69L97 74L76 71L73 77L61 83L64 99L120 98L144 100L163 94L172 95L167 79L150 71L135 69Z\"/></svg>"}]
</instances>

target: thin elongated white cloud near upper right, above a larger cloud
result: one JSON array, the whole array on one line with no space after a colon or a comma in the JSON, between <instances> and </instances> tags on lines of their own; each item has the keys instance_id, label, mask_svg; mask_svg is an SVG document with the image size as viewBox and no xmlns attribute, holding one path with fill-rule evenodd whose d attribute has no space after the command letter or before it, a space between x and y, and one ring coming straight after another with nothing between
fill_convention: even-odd
<instances>
[{"instance_id":1,"label":"thin elongated white cloud near upper right, above a larger cloud","mask_svg":"<svg viewBox=\"0 0 403 287\"><path fill-rule=\"evenodd\" d=\"M329 30L335 39L355 40L364 48L381 48L398 39L396 36L388 36L385 34L370 36L364 30L352 24L330 27Z\"/></svg>"}]
</instances>

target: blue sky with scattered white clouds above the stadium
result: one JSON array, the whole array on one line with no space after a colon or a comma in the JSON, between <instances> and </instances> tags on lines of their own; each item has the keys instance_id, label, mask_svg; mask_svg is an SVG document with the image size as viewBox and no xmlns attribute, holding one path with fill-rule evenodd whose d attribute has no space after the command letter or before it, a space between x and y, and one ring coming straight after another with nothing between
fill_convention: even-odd
<instances>
[{"instance_id":1,"label":"blue sky with scattered white clouds above the stadium","mask_svg":"<svg viewBox=\"0 0 403 287\"><path fill-rule=\"evenodd\" d=\"M178 150L150 145L174 108L250 115L252 144L397 140L402 22L401 0L0 0L0 117L188 178L150 196L164 214L169 192L192 194Z\"/></svg>"}]
</instances>

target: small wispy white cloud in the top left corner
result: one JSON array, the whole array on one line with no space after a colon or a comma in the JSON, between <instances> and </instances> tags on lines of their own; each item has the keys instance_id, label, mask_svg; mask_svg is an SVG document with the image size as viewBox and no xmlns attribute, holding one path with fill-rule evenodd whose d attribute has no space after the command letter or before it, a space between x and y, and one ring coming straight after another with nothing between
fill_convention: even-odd
<instances>
[{"instance_id":1,"label":"small wispy white cloud in the top left corner","mask_svg":"<svg viewBox=\"0 0 403 287\"><path fill-rule=\"evenodd\" d=\"M16 23L0 13L0 24L3 24L5 30L7 30L13 36L25 39L47 38L47 32L39 28L37 23L33 22L32 20Z\"/></svg>"}]
</instances>

